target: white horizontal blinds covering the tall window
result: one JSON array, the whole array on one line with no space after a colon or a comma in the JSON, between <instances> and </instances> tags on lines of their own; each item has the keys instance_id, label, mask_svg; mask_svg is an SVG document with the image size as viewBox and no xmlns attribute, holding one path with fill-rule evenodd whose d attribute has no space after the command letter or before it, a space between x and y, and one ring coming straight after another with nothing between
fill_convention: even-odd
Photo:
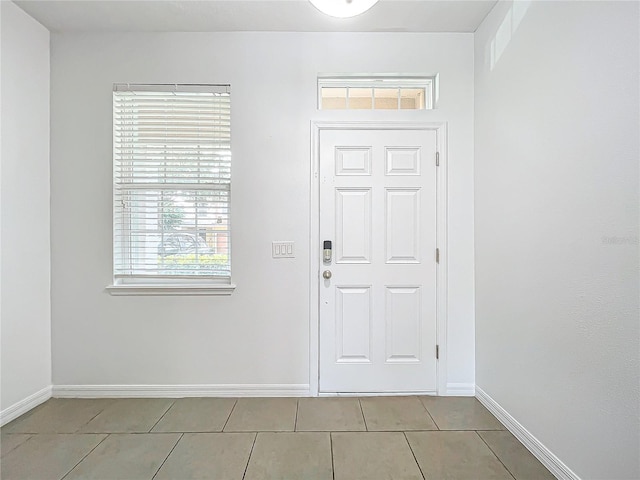
<instances>
[{"instance_id":1,"label":"white horizontal blinds covering the tall window","mask_svg":"<svg viewBox=\"0 0 640 480\"><path fill-rule=\"evenodd\" d=\"M230 277L228 86L115 85L114 273Z\"/></svg>"}]
</instances>

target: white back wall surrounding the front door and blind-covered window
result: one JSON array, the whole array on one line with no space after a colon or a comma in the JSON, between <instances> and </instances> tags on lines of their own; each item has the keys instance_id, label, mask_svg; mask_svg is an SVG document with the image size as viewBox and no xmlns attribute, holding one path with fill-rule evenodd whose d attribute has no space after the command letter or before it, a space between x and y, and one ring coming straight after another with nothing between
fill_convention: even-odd
<instances>
[{"instance_id":1,"label":"white back wall surrounding the front door and blind-covered window","mask_svg":"<svg viewBox=\"0 0 640 480\"><path fill-rule=\"evenodd\" d=\"M449 382L473 385L471 34L61 34L51 62L55 384L308 384L310 122L346 118L316 76L437 72L438 110L391 116L449 122ZM114 82L232 85L231 297L105 292Z\"/></svg>"}]
</instances>

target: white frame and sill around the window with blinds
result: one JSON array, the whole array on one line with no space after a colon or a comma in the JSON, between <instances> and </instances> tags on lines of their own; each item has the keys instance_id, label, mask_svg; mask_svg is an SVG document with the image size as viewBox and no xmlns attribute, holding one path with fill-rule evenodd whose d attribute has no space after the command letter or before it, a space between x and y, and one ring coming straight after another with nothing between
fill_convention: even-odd
<instances>
[{"instance_id":1,"label":"white frame and sill around the window with blinds","mask_svg":"<svg viewBox=\"0 0 640 480\"><path fill-rule=\"evenodd\" d=\"M208 85L208 84L114 84L113 92L158 92L158 93L226 93L230 96L230 85ZM229 99L230 101L230 99ZM115 108L115 96L112 100L112 108ZM232 282L231 271L231 185L232 179L229 176L227 187L227 245L229 251L229 275L163 275L163 274L119 274L117 273L118 264L116 262L116 237L118 231L117 215L118 210L116 206L116 199L118 198L117 189L122 185L131 185L118 181L117 178L117 157L115 151L115 129L116 129L116 117L115 111L112 117L112 126L114 129L114 136L112 137L112 145L114 150L112 151L112 166L113 166L113 193L112 193L112 283L106 287L106 290L111 295L231 295L236 285ZM231 127L231 120L229 119L229 128ZM231 147L231 140L229 140L229 146ZM159 182L161 185L161 182ZM131 188L131 187L130 187ZM192 188L187 188L191 190ZM225 189L220 189L224 191ZM194 190L194 192L196 192ZM216 189L204 188L202 191L214 192ZM120 211L120 215L124 215ZM181 234L185 232L175 232L175 234ZM120 237L120 242L127 244L131 242L131 234Z\"/></svg>"}]
</instances>

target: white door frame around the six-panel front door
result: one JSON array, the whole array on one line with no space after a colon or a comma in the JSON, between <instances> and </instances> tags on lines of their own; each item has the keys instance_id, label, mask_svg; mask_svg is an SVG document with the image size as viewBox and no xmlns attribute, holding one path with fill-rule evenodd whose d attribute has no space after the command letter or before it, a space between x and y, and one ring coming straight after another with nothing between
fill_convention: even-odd
<instances>
[{"instance_id":1,"label":"white door frame around the six-panel front door","mask_svg":"<svg viewBox=\"0 0 640 480\"><path fill-rule=\"evenodd\" d=\"M436 132L436 151L439 153L439 166L436 167L436 245L440 251L440 262L436 264L436 341L439 345L439 359L436 361L436 385L438 395L444 395L447 386L447 123L315 120L311 121L309 395L312 397L320 395L320 133L323 130L426 130ZM435 164L435 158L433 162ZM384 394L384 392L380 392L380 394ZM322 395L335 394L323 393Z\"/></svg>"}]
</instances>

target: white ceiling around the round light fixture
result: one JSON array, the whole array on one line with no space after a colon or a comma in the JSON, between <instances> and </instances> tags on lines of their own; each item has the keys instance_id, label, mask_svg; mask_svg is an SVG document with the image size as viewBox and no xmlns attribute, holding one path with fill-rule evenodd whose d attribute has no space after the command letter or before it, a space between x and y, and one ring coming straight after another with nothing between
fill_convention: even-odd
<instances>
[{"instance_id":1,"label":"white ceiling around the round light fixture","mask_svg":"<svg viewBox=\"0 0 640 480\"><path fill-rule=\"evenodd\" d=\"M496 0L380 0L349 19L307 0L16 0L52 32L474 32Z\"/></svg>"}]
</instances>

